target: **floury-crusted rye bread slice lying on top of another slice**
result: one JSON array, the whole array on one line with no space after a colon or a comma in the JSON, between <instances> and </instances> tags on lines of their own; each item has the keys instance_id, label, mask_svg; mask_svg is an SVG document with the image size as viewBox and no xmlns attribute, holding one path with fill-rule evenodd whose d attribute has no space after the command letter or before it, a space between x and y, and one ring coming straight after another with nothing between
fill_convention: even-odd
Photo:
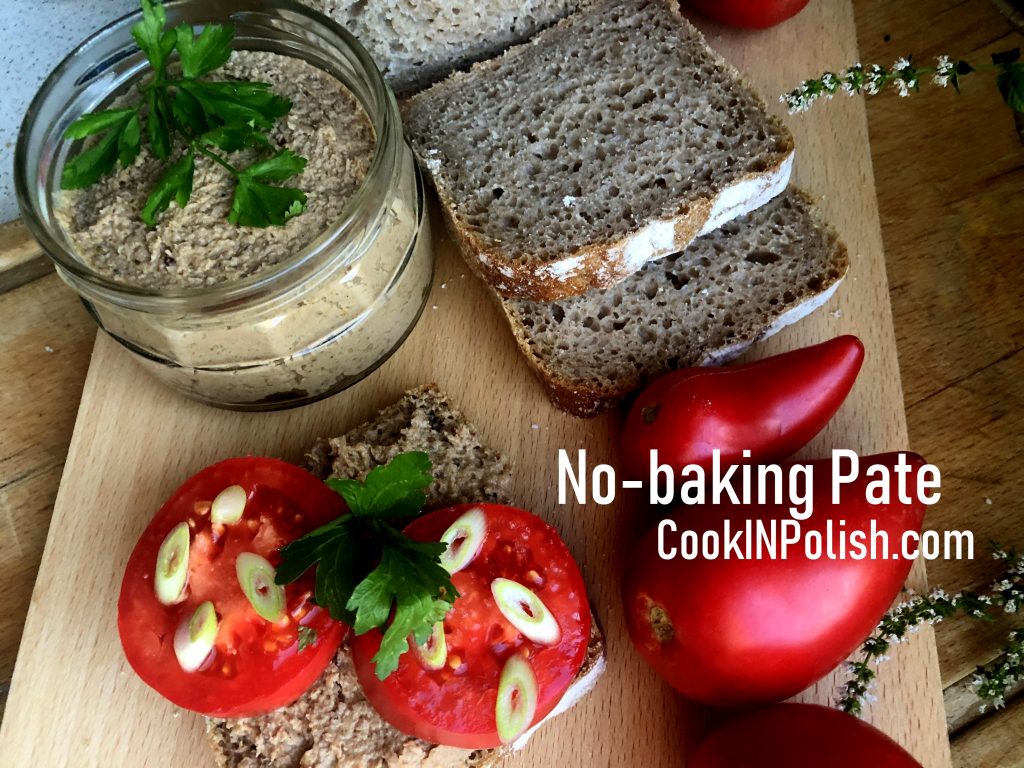
<instances>
[{"instance_id":1,"label":"floury-crusted rye bread slice lying on top of another slice","mask_svg":"<svg viewBox=\"0 0 1024 768\"><path fill-rule=\"evenodd\" d=\"M677 0L585 7L404 119L464 257L513 298L612 286L781 193L793 162Z\"/></svg>"}]
</instances>

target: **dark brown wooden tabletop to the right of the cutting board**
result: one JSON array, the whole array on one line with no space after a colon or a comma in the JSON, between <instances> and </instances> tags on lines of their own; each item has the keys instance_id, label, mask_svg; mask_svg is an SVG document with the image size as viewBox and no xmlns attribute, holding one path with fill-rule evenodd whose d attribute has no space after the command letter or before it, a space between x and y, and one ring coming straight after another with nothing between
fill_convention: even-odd
<instances>
[{"instance_id":1,"label":"dark brown wooden tabletop to the right of the cutting board","mask_svg":"<svg viewBox=\"0 0 1024 768\"><path fill-rule=\"evenodd\" d=\"M908 53L983 63L1024 43L982 0L856 8L865 63ZM971 529L978 546L973 561L929 564L931 583L951 593L997 575L989 541L1024 546L1024 145L993 81L978 74L959 96L926 86L867 102L910 447L943 470L943 501L926 524ZM979 713L970 685L1015 624L958 618L936 629L958 767L1024 765L1024 697L994 717Z\"/></svg>"}]
</instances>

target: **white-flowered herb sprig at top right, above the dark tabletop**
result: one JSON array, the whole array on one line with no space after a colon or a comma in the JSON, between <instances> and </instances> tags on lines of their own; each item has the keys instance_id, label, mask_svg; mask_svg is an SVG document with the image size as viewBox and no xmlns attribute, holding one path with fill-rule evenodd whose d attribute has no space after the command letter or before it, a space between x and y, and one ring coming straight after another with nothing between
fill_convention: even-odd
<instances>
[{"instance_id":1,"label":"white-flowered herb sprig at top right, above the dark tabletop","mask_svg":"<svg viewBox=\"0 0 1024 768\"><path fill-rule=\"evenodd\" d=\"M1021 49L992 54L992 62L972 65L964 59L939 56L933 67L919 67L912 56L898 58L892 67L855 63L842 72L826 72L816 80L805 80L797 88L779 96L790 109L790 114L807 112L820 98L831 98L837 93L874 96L889 87L900 96L909 96L921 90L922 82L931 77L931 83L940 88L952 86L959 93L963 78L976 72L998 72L996 85L1002 99L1015 112L1024 113L1024 63Z\"/></svg>"}]
</instances>

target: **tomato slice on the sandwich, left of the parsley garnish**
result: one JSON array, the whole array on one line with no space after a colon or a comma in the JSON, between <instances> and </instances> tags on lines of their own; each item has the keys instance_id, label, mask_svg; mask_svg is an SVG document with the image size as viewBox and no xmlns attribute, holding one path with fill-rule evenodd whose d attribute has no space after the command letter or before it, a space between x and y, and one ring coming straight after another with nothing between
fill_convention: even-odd
<instances>
[{"instance_id":1,"label":"tomato slice on the sandwich, left of the parsley garnish","mask_svg":"<svg viewBox=\"0 0 1024 768\"><path fill-rule=\"evenodd\" d=\"M246 495L242 517L215 523L211 504L231 485ZM132 669L163 696L203 715L248 717L294 701L334 657L346 628L312 602L312 572L285 588L280 618L268 621L246 597L237 561L251 553L276 566L283 545L343 511L321 480L276 459L229 459L187 479L146 526L125 568L118 632ZM179 601L165 605L155 588L158 557L180 523L188 532L187 582ZM217 618L213 647L205 656L200 651L199 668L187 672L175 634L207 601Z\"/></svg>"}]
</instances>

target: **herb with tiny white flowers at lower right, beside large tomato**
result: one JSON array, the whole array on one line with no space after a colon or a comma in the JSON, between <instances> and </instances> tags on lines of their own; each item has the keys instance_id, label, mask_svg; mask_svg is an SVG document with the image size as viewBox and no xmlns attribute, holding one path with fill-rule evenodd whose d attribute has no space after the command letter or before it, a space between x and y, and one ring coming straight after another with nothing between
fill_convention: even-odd
<instances>
[{"instance_id":1,"label":"herb with tiny white flowers at lower right, beside large tomato","mask_svg":"<svg viewBox=\"0 0 1024 768\"><path fill-rule=\"evenodd\" d=\"M861 645L860 657L847 665L850 679L840 689L839 709L859 715L865 705L874 700L870 694L877 676L874 668L888 660L892 645L903 642L923 626L938 624L957 613L990 622L995 618L994 609L1001 608L1005 613L1024 609L1024 555L996 548L992 557L1004 563L1004 572L988 592L950 596L936 589L928 595L911 596L886 613ZM981 698L999 708L1007 691L1020 680L1024 680L1024 630L1014 630L1004 653L978 670L973 685ZM982 705L982 710L985 706Z\"/></svg>"}]
</instances>

